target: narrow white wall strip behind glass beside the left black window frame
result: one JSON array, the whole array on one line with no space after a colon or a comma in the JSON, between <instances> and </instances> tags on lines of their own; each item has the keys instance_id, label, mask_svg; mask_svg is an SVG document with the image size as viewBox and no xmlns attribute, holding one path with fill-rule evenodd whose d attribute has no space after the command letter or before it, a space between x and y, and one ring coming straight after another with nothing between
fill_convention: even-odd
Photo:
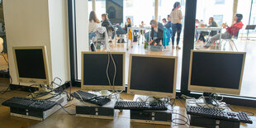
<instances>
[{"instance_id":1,"label":"narrow white wall strip behind glass beside the left black window frame","mask_svg":"<svg viewBox=\"0 0 256 128\"><path fill-rule=\"evenodd\" d=\"M78 79L81 78L81 52L88 51L88 0L76 0L76 32L78 55Z\"/></svg>"}]
</instances>

